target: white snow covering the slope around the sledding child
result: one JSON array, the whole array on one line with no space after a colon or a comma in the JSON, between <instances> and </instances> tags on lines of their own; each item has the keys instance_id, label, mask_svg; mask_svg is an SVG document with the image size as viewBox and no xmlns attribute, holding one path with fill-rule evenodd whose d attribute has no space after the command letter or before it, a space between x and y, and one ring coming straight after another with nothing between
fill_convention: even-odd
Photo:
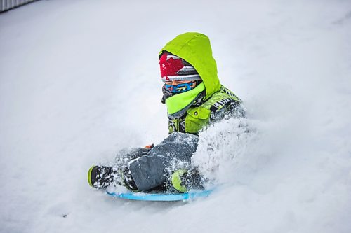
<instances>
[{"instance_id":1,"label":"white snow covering the slope around the sledding child","mask_svg":"<svg viewBox=\"0 0 351 233\"><path fill-rule=\"evenodd\" d=\"M350 13L347 0L51 0L1 14L0 232L350 232ZM157 55L186 31L209 36L248 111L194 155L225 185L190 203L91 189L92 164L167 135Z\"/></svg>"}]
</instances>

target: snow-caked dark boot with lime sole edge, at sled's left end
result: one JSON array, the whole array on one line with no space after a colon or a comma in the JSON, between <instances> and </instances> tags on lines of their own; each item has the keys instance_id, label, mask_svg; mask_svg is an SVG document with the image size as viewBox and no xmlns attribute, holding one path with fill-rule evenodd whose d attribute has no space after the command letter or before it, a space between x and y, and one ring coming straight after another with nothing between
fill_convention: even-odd
<instances>
[{"instance_id":1,"label":"snow-caked dark boot with lime sole edge, at sled's left end","mask_svg":"<svg viewBox=\"0 0 351 233\"><path fill-rule=\"evenodd\" d=\"M107 188L111 183L123 185L130 190L138 190L128 169L93 166L88 171L88 183L93 188Z\"/></svg>"}]
</instances>

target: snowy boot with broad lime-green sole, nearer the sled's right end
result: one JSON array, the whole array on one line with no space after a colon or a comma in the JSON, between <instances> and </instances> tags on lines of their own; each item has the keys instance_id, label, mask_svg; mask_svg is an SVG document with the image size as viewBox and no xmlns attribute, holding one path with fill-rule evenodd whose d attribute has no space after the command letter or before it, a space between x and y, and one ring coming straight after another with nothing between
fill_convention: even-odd
<instances>
[{"instance_id":1,"label":"snowy boot with broad lime-green sole, nearer the sled's right end","mask_svg":"<svg viewBox=\"0 0 351 233\"><path fill-rule=\"evenodd\" d=\"M191 189L203 190L202 178L196 169L179 169L171 176L171 184L178 192L189 192Z\"/></svg>"}]
</instances>

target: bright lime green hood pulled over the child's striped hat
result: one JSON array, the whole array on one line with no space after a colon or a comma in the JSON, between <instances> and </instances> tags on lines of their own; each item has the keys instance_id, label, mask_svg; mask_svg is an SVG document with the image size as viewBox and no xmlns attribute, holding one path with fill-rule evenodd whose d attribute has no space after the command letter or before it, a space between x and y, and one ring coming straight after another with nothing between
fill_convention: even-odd
<instances>
[{"instance_id":1,"label":"bright lime green hood pulled over the child's striped hat","mask_svg":"<svg viewBox=\"0 0 351 233\"><path fill-rule=\"evenodd\" d=\"M210 40L206 35L197 32L180 34L162 48L159 56L164 51L171 52L194 66L204 82L206 89L205 99L210 98L213 93L220 90L217 64L212 57Z\"/></svg>"}]
</instances>

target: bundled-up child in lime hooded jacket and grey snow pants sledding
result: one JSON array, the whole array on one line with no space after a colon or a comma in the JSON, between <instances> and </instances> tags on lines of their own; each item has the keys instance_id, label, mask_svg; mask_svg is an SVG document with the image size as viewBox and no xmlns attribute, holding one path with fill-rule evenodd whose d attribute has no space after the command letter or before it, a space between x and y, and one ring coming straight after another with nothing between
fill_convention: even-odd
<instances>
[{"instance_id":1,"label":"bundled-up child in lime hooded jacket and grey snow pants sledding","mask_svg":"<svg viewBox=\"0 0 351 233\"><path fill-rule=\"evenodd\" d=\"M159 64L168 137L157 146L126 153L126 164L91 167L88 182L94 188L107 188L111 183L135 191L201 188L204 179L191 166L199 131L223 118L244 118L241 100L220 85L210 41L204 34L180 34L162 48Z\"/></svg>"}]
</instances>

